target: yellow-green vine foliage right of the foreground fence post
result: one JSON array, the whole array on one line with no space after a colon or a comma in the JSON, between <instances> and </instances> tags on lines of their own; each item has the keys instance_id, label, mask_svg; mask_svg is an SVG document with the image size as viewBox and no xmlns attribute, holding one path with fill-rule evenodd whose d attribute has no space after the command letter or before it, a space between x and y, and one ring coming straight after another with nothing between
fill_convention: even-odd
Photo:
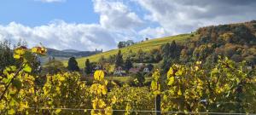
<instances>
[{"instance_id":1,"label":"yellow-green vine foliage right of the foreground fence post","mask_svg":"<svg viewBox=\"0 0 256 115\"><path fill-rule=\"evenodd\" d=\"M166 90L161 93L162 110L254 112L255 99L246 96L255 89L252 77L244 63L236 64L228 58L218 60L210 72L202 68L201 61L192 67L173 65L167 73Z\"/></svg>"}]
</instances>

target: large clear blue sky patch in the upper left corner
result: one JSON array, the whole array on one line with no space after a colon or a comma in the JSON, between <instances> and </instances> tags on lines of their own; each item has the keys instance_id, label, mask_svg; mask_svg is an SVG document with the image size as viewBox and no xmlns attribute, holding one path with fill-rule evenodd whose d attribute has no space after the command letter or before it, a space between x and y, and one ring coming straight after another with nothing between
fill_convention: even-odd
<instances>
[{"instance_id":1,"label":"large clear blue sky patch in the upper left corner","mask_svg":"<svg viewBox=\"0 0 256 115\"><path fill-rule=\"evenodd\" d=\"M67 0L66 2L42 3L35 0L0 1L0 22L10 22L26 26L41 26L51 20L67 23L98 23L99 14L94 13L90 0Z\"/></svg>"}]
</instances>

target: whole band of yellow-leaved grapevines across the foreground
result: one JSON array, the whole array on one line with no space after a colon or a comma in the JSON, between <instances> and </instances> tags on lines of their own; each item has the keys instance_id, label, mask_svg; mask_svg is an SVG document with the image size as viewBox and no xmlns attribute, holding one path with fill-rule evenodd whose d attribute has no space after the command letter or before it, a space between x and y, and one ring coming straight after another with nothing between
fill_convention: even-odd
<instances>
[{"instance_id":1,"label":"whole band of yellow-leaved grapevines across the foreground","mask_svg":"<svg viewBox=\"0 0 256 115\"><path fill-rule=\"evenodd\" d=\"M255 72L245 61L218 57L210 68L201 61L173 64L166 74L155 69L150 86L142 87L119 86L97 70L87 85L78 72L38 76L32 60L45 52L44 47L15 49L20 64L0 76L1 114L256 113Z\"/></svg>"}]
</instances>

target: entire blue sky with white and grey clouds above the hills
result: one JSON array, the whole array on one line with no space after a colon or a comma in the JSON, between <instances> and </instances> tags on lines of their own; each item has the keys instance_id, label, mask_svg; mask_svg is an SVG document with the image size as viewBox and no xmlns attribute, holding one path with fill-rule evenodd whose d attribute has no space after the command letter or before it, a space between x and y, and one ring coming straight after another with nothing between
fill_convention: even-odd
<instances>
[{"instance_id":1,"label":"entire blue sky with white and grey clouds above the hills","mask_svg":"<svg viewBox=\"0 0 256 115\"><path fill-rule=\"evenodd\" d=\"M248 20L256 20L256 0L1 0L0 40L109 50L123 40Z\"/></svg>"}]
</instances>

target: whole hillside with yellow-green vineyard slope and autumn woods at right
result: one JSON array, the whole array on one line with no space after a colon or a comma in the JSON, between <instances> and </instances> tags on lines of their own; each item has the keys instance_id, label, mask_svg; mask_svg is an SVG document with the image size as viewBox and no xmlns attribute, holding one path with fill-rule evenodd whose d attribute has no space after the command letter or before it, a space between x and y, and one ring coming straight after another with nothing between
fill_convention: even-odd
<instances>
[{"instance_id":1,"label":"whole hillside with yellow-green vineyard slope and autumn woods at right","mask_svg":"<svg viewBox=\"0 0 256 115\"><path fill-rule=\"evenodd\" d=\"M134 53L137 53L139 49L147 53L151 49L160 48L161 45L171 43L175 40L178 44L177 49L175 49L177 51L175 57L179 62L187 63L189 61L201 60L212 63L218 59L218 55L222 55L236 62L247 60L248 64L255 65L255 36L255 20L228 25L205 26L190 34L155 38L122 49L113 49L100 54L78 58L77 61L79 67L83 68L86 59L96 62L102 58L102 56L108 58L110 55L116 55L119 50L121 50L124 58L128 54L131 54L130 51L133 53L133 56L137 56L137 54ZM166 53L166 51L160 52ZM64 61L64 65L67 66L67 60Z\"/></svg>"}]
</instances>

